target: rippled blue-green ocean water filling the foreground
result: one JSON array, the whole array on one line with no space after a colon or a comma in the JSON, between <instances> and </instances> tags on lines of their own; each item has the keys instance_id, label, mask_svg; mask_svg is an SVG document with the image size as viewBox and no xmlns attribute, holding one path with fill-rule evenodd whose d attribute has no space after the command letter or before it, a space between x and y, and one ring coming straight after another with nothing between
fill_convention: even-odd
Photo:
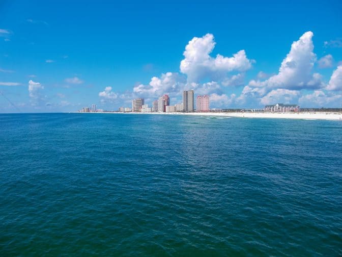
<instances>
[{"instance_id":1,"label":"rippled blue-green ocean water filling the foreground","mask_svg":"<svg viewBox=\"0 0 342 257\"><path fill-rule=\"evenodd\" d=\"M342 122L0 115L0 255L342 255Z\"/></svg>"}]
</instances>

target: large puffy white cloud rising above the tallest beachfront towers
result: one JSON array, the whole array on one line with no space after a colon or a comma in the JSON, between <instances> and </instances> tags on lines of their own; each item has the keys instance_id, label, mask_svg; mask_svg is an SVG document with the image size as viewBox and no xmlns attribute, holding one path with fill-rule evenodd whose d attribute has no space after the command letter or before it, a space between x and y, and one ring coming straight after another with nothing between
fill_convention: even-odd
<instances>
[{"instance_id":1,"label":"large puffy white cloud rising above the tallest beachfront towers","mask_svg":"<svg viewBox=\"0 0 342 257\"><path fill-rule=\"evenodd\" d=\"M233 57L217 55L210 56L215 47L214 36L206 34L201 38L194 37L185 47L184 59L180 70L187 74L188 82L198 82L204 78L218 79L231 71L246 71L251 68L252 61L248 60L244 50L240 50Z\"/></svg>"}]
</instances>

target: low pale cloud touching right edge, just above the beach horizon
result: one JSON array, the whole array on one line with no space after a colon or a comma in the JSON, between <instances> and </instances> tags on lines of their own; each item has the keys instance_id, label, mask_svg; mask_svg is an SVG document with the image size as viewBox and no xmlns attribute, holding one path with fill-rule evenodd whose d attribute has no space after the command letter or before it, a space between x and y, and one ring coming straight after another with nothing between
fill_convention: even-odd
<instances>
[{"instance_id":1,"label":"low pale cloud touching right edge, just above the beach horizon","mask_svg":"<svg viewBox=\"0 0 342 257\"><path fill-rule=\"evenodd\" d=\"M303 95L299 98L301 107L338 107L342 100L342 95L329 93L322 90L315 90L311 94Z\"/></svg>"}]
</instances>

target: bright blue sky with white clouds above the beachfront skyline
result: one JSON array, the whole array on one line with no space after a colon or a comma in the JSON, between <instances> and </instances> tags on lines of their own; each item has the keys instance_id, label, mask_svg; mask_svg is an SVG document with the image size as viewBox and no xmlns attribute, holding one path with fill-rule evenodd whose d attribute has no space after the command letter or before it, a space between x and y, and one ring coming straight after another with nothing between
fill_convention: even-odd
<instances>
[{"instance_id":1,"label":"bright blue sky with white clouds above the beachfront skyline","mask_svg":"<svg viewBox=\"0 0 342 257\"><path fill-rule=\"evenodd\" d=\"M0 1L0 112L342 102L341 1Z\"/></svg>"}]
</instances>

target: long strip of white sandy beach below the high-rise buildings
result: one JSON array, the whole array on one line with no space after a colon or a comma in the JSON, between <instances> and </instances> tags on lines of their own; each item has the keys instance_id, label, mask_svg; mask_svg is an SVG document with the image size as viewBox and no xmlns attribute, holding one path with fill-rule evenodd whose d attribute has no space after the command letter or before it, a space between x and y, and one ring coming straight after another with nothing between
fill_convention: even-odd
<instances>
[{"instance_id":1,"label":"long strip of white sandy beach below the high-rise buildings","mask_svg":"<svg viewBox=\"0 0 342 257\"><path fill-rule=\"evenodd\" d=\"M268 119L304 119L304 120L340 120L342 113L333 112L303 112L303 113L241 113L241 112L203 112L203 113L150 113L150 112L101 112L107 114L150 114L150 115L192 115L219 116L230 118L268 118Z\"/></svg>"}]
</instances>

